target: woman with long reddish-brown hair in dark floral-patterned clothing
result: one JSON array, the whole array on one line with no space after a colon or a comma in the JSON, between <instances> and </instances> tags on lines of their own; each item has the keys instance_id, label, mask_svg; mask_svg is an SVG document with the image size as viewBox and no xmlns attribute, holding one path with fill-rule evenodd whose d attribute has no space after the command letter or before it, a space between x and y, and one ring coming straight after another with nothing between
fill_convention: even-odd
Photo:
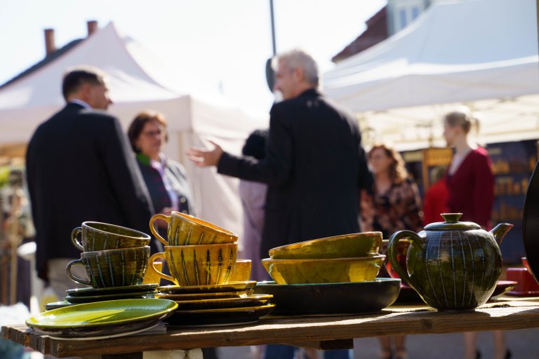
<instances>
[{"instance_id":1,"label":"woman with long reddish-brown hair in dark floral-patterned clothing","mask_svg":"<svg viewBox=\"0 0 539 359\"><path fill-rule=\"evenodd\" d=\"M361 196L361 220L366 231L380 231L383 238L408 229L420 231L421 199L417 184L408 176L399 152L387 144L375 144L368 152L374 175L370 192ZM379 337L381 359L406 359L406 337ZM392 342L394 348L392 348Z\"/></svg>"}]
</instances>

